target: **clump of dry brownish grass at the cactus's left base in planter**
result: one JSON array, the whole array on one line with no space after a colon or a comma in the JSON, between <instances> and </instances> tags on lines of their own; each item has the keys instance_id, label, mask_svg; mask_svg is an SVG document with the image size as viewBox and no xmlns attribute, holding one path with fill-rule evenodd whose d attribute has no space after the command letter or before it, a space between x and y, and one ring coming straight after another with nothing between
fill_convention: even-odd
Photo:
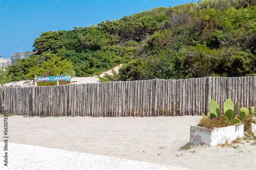
<instances>
[{"instance_id":1,"label":"clump of dry brownish grass at the cactus's left base in planter","mask_svg":"<svg viewBox=\"0 0 256 170\"><path fill-rule=\"evenodd\" d=\"M224 127L225 124L223 122L223 119L220 117L215 117L215 118L208 118L204 117L200 120L198 126L201 126L203 128L221 128Z\"/></svg>"}]
</instances>

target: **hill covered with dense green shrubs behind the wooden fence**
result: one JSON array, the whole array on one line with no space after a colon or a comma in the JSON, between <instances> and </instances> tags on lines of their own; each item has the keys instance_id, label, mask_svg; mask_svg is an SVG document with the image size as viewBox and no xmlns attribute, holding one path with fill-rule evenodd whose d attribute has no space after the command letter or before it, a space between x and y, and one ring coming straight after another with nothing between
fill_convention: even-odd
<instances>
[{"instance_id":1,"label":"hill covered with dense green shrubs behind the wooden fence","mask_svg":"<svg viewBox=\"0 0 256 170\"><path fill-rule=\"evenodd\" d=\"M119 74L107 79L255 75L255 21L255 1L207 0L44 32L33 44L36 54L9 66L4 79L91 76L119 63Z\"/></svg>"}]
</instances>

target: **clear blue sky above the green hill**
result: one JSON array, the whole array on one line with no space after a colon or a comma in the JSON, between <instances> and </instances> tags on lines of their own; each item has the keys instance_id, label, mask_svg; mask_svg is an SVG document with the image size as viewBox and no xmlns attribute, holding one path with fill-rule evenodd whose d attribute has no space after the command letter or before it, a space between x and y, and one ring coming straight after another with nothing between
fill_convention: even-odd
<instances>
[{"instance_id":1,"label":"clear blue sky above the green hill","mask_svg":"<svg viewBox=\"0 0 256 170\"><path fill-rule=\"evenodd\" d=\"M195 0L1 0L0 54L32 51L42 32L97 25L160 6Z\"/></svg>"}]
</instances>

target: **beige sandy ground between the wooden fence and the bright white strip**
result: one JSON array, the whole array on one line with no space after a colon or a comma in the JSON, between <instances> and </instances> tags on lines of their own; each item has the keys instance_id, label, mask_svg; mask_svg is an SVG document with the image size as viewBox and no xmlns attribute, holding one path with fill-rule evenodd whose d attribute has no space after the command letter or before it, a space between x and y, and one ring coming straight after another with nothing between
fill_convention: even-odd
<instances>
[{"instance_id":1,"label":"beige sandy ground between the wooden fence and the bright white strip","mask_svg":"<svg viewBox=\"0 0 256 170\"><path fill-rule=\"evenodd\" d=\"M180 150L189 141L190 125L199 119L11 116L9 141L184 168L255 169L253 140Z\"/></svg>"}]
</instances>

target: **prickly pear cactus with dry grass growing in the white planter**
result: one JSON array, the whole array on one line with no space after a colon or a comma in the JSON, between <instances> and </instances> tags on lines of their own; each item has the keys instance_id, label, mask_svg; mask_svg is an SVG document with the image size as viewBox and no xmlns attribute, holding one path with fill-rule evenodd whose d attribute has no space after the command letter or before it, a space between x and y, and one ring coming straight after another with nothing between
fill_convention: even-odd
<instances>
[{"instance_id":1,"label":"prickly pear cactus with dry grass growing in the white planter","mask_svg":"<svg viewBox=\"0 0 256 170\"><path fill-rule=\"evenodd\" d=\"M198 126L210 129L231 125L238 126L247 120L251 112L254 114L254 107L251 108L251 111L241 107L240 114L238 115L239 102L237 101L234 107L231 98L228 98L224 103L224 113L221 112L219 105L214 100L210 101L209 109L210 112L207 113L207 116L203 114L203 118Z\"/></svg>"}]
</instances>

